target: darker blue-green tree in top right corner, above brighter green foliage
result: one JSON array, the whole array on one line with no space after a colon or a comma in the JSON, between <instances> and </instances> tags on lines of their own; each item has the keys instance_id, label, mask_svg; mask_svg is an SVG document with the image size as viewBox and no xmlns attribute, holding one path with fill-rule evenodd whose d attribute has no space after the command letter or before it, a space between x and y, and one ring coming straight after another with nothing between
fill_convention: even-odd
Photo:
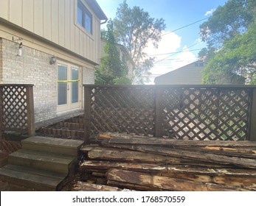
<instances>
[{"instance_id":1,"label":"darker blue-green tree in top right corner, above brighter green foliage","mask_svg":"<svg viewBox=\"0 0 256 206\"><path fill-rule=\"evenodd\" d=\"M246 32L253 22L255 7L254 0L229 0L218 7L208 21L200 25L201 39L207 48L199 52L199 58L211 59L226 40Z\"/></svg>"}]
</instances>

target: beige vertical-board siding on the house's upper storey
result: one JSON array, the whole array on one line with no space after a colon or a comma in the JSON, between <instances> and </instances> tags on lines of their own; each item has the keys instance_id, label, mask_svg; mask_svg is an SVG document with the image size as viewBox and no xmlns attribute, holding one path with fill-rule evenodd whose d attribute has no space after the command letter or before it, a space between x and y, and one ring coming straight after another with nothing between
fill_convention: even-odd
<instances>
[{"instance_id":1,"label":"beige vertical-board siding on the house's upper storey","mask_svg":"<svg viewBox=\"0 0 256 206\"><path fill-rule=\"evenodd\" d=\"M77 24L77 0L1 0L0 18L99 64L100 20L82 1L92 14L92 35ZM15 29L8 32L24 38L31 46L30 39Z\"/></svg>"}]
</instances>

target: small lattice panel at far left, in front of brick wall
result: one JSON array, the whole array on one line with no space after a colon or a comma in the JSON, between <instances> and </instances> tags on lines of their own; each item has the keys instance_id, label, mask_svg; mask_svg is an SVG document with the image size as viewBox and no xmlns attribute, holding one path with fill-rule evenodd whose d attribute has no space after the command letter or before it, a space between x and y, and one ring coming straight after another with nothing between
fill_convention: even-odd
<instances>
[{"instance_id":1,"label":"small lattice panel at far left, in front of brick wall","mask_svg":"<svg viewBox=\"0 0 256 206\"><path fill-rule=\"evenodd\" d=\"M23 131L27 122L27 88L22 85L1 87L1 115L4 129Z\"/></svg>"}]
</instances>

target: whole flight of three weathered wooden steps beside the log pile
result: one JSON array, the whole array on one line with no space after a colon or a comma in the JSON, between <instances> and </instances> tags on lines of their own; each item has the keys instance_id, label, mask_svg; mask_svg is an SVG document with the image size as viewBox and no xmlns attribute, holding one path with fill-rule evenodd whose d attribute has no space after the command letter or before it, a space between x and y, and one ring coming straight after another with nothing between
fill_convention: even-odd
<instances>
[{"instance_id":1,"label":"whole flight of three weathered wooden steps beside the log pile","mask_svg":"<svg viewBox=\"0 0 256 206\"><path fill-rule=\"evenodd\" d=\"M77 166L83 141L35 136L21 141L22 149L8 155L0 179L24 191L59 191Z\"/></svg>"}]
</instances>

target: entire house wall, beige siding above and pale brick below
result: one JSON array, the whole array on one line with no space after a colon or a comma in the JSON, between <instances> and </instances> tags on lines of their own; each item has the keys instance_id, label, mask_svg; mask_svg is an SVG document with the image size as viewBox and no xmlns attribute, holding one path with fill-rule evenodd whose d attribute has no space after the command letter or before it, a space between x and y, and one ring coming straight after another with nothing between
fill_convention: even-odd
<instances>
[{"instance_id":1,"label":"entire house wall, beige siding above and pale brick below","mask_svg":"<svg viewBox=\"0 0 256 206\"><path fill-rule=\"evenodd\" d=\"M100 19L86 4L92 1L81 1L92 15L92 35L77 24L77 0L0 0L0 83L34 85L36 123L74 111L69 107L60 112L57 107L58 63L75 65L82 83L94 84L94 66L100 63ZM52 56L55 65L49 64ZM75 110L83 108L82 88L80 96Z\"/></svg>"}]
</instances>

